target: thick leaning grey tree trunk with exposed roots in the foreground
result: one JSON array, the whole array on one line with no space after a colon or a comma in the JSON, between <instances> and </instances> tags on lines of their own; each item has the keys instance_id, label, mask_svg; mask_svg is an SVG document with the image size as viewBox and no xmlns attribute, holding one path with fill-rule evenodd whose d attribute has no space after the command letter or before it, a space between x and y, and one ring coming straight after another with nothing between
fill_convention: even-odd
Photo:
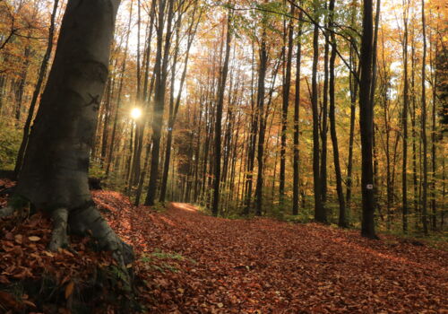
<instances>
[{"instance_id":1,"label":"thick leaning grey tree trunk with exposed roots in the foreground","mask_svg":"<svg viewBox=\"0 0 448 314\"><path fill-rule=\"evenodd\" d=\"M109 48L120 1L70 1L56 56L40 102L14 198L54 219L49 249L66 244L66 227L99 240L123 263L131 259L94 207L88 185L89 154L99 101L108 79ZM45 149L42 149L45 147ZM1 213L0 213L1 214Z\"/></svg>"}]
</instances>

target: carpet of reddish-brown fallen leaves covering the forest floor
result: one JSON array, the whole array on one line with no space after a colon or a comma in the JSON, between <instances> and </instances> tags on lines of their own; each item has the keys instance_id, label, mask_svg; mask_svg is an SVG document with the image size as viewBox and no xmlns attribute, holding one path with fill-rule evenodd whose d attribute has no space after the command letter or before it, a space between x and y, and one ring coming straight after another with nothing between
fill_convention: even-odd
<instances>
[{"instance_id":1,"label":"carpet of reddish-brown fallen leaves covering the forest floor","mask_svg":"<svg viewBox=\"0 0 448 314\"><path fill-rule=\"evenodd\" d=\"M214 218L179 203L155 212L110 191L93 196L134 245L137 290L149 313L448 313L446 250L386 235L366 240L315 223ZM73 269L105 263L106 257L45 251L49 227L42 219L0 228L0 283L36 276L38 266L52 263L73 276ZM73 249L85 249L82 243ZM67 298L76 280L60 277ZM1 290L0 305L8 301Z\"/></svg>"}]
</instances>

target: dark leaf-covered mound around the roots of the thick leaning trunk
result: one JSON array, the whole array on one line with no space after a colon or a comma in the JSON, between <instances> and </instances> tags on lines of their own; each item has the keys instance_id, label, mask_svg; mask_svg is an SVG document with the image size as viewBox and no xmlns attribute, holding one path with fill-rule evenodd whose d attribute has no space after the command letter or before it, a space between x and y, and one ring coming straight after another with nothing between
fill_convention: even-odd
<instances>
[{"instance_id":1,"label":"dark leaf-covered mound around the roots of the thick leaning trunk","mask_svg":"<svg viewBox=\"0 0 448 314\"><path fill-rule=\"evenodd\" d=\"M50 252L51 227L44 214L27 208L0 219L0 313L138 310L109 252L73 236L69 248Z\"/></svg>"}]
</instances>

